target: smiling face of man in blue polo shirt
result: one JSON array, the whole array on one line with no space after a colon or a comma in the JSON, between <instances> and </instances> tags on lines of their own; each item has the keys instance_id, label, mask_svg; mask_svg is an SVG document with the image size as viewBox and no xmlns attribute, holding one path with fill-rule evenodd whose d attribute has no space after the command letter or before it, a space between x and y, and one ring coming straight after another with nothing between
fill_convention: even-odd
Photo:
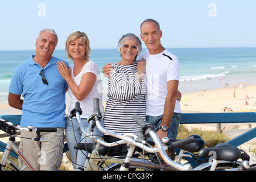
<instances>
[{"instance_id":1,"label":"smiling face of man in blue polo shirt","mask_svg":"<svg viewBox=\"0 0 256 182\"><path fill-rule=\"evenodd\" d=\"M56 47L57 38L51 32L44 31L36 40L36 57L48 60L51 59L52 53Z\"/></svg>"}]
</instances>

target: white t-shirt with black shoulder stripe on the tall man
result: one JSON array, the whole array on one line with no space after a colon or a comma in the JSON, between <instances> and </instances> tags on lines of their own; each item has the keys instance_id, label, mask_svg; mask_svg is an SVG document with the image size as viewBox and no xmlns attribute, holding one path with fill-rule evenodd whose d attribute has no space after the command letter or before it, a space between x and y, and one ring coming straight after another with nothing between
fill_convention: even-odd
<instances>
[{"instance_id":1,"label":"white t-shirt with black shoulder stripe on the tall man","mask_svg":"<svg viewBox=\"0 0 256 182\"><path fill-rule=\"evenodd\" d=\"M179 60L170 51L150 55L144 51L138 60L146 59L146 115L159 116L164 113L164 102L167 97L167 82L179 81ZM176 100L175 113L181 113L179 101Z\"/></svg>"}]
</instances>

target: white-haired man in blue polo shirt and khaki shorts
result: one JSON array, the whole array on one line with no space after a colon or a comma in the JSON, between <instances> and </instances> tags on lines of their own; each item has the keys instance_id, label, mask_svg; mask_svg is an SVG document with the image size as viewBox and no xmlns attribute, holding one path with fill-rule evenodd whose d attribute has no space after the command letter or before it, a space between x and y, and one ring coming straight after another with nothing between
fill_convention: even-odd
<instances>
[{"instance_id":1,"label":"white-haired man in blue polo shirt and khaki shorts","mask_svg":"<svg viewBox=\"0 0 256 182\"><path fill-rule=\"evenodd\" d=\"M35 56L16 67L9 88L9 105L22 110L20 126L57 128L56 133L42 133L42 138L49 139L43 142L26 139L35 138L35 133L22 131L20 150L36 170L57 170L63 158L68 85L57 70L56 63L60 60L52 56L57 41L54 30L40 31ZM23 165L21 160L19 165Z\"/></svg>"}]
</instances>

